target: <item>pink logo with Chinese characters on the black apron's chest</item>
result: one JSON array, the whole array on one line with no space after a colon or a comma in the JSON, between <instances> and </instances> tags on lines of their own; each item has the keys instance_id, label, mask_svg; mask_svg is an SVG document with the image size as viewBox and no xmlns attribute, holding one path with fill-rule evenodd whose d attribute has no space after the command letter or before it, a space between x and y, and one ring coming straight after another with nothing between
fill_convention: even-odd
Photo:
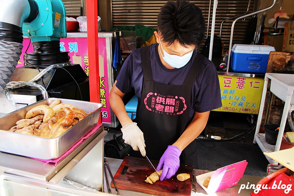
<instances>
[{"instance_id":1,"label":"pink logo with Chinese characters on the black apron's chest","mask_svg":"<svg viewBox=\"0 0 294 196\"><path fill-rule=\"evenodd\" d=\"M160 114L178 115L187 109L183 97L161 95L152 92L148 93L146 98L144 98L144 103L147 110Z\"/></svg>"}]
</instances>

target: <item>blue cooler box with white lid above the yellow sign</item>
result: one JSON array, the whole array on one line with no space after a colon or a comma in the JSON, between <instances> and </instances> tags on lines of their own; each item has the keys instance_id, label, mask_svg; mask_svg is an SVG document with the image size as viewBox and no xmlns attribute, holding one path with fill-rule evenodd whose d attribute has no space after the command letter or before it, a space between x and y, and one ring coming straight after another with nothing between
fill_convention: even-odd
<instances>
[{"instance_id":1,"label":"blue cooler box with white lid above the yellow sign","mask_svg":"<svg viewBox=\"0 0 294 196\"><path fill-rule=\"evenodd\" d=\"M236 72L265 73L271 51L275 51L273 46L234 44L231 68Z\"/></svg>"}]
</instances>

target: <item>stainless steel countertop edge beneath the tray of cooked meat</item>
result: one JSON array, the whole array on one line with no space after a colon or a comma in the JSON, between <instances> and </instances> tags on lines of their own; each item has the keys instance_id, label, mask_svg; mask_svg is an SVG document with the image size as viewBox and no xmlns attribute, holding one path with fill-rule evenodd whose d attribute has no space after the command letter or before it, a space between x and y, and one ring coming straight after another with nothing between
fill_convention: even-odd
<instances>
[{"instance_id":1,"label":"stainless steel countertop edge beneath the tray of cooked meat","mask_svg":"<svg viewBox=\"0 0 294 196\"><path fill-rule=\"evenodd\" d=\"M103 129L103 126L100 128ZM99 130L100 130L99 129ZM31 179L58 183L77 163L107 134L107 131L97 130L81 145L74 149L56 167L53 163L44 165L44 162L0 152L0 175L3 173L28 177Z\"/></svg>"}]
</instances>

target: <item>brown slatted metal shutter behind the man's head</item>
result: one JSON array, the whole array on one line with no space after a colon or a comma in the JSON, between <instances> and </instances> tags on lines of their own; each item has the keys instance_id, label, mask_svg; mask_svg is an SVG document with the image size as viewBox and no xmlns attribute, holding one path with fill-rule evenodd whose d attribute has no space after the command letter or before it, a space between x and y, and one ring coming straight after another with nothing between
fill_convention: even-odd
<instances>
[{"instance_id":1,"label":"brown slatted metal shutter behind the man's head","mask_svg":"<svg viewBox=\"0 0 294 196\"><path fill-rule=\"evenodd\" d=\"M247 11L249 0L226 0L218 1L218 7L216 10L216 26L215 34L220 33L220 24L223 20L244 14ZM112 0L112 26L133 26L135 24L143 24L145 26L151 26L156 28L157 25L157 14L159 9L167 1L157 0ZM209 12L209 0L202 1L190 1L202 9L203 17L208 23L208 12ZM248 13L253 12L254 0L250 1L250 8ZM211 3L211 16L210 16L210 28L212 19L213 1ZM244 21L239 20L235 24L234 28L234 43L243 43L246 35L247 25L250 17ZM233 20L226 21L222 28L222 41L224 42L224 51L228 50L230 42L230 32ZM210 33L210 31L209 31ZM206 33L205 33L206 35ZM206 36L205 36L206 38ZM203 41L204 43L204 41Z\"/></svg>"}]
</instances>

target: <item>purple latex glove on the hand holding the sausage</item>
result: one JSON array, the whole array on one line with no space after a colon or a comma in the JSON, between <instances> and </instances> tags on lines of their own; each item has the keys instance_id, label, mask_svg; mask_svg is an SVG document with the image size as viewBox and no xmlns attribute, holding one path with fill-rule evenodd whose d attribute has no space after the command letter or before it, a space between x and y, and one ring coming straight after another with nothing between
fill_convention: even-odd
<instances>
[{"instance_id":1,"label":"purple latex glove on the hand holding the sausage","mask_svg":"<svg viewBox=\"0 0 294 196\"><path fill-rule=\"evenodd\" d=\"M157 171L162 169L162 174L160 176L161 181L163 179L170 179L178 171L181 153L182 151L176 146L167 147L156 167Z\"/></svg>"}]
</instances>

